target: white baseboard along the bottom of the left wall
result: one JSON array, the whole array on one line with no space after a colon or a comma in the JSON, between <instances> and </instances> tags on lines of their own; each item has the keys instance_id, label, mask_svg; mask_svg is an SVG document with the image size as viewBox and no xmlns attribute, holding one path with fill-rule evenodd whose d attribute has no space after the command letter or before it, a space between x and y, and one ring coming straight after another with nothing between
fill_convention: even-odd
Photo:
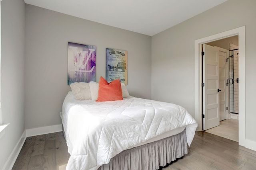
<instances>
[{"instance_id":1,"label":"white baseboard along the bottom of the left wall","mask_svg":"<svg viewBox=\"0 0 256 170\"><path fill-rule=\"evenodd\" d=\"M7 159L6 163L4 164L3 170L12 170L12 167L18 158L18 155L20 153L20 150L22 149L23 144L26 140L26 130L23 132L22 136L20 137L20 140L12 150L12 153L10 154L9 158Z\"/></svg>"}]
</instances>

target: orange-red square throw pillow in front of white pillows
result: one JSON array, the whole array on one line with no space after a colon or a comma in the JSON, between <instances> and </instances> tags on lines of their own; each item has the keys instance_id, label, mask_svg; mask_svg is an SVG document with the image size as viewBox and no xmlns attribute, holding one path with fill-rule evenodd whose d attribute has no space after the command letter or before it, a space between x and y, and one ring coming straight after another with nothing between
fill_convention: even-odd
<instances>
[{"instance_id":1,"label":"orange-red square throw pillow in front of white pillows","mask_svg":"<svg viewBox=\"0 0 256 170\"><path fill-rule=\"evenodd\" d=\"M122 88L119 79L108 83L103 77L99 80L98 98L96 102L123 100Z\"/></svg>"}]
</instances>

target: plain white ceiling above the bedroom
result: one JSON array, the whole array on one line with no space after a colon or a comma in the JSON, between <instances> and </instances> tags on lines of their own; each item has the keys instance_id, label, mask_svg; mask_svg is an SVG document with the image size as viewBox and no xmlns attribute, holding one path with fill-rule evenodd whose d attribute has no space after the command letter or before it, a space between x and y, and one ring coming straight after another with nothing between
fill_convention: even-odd
<instances>
[{"instance_id":1,"label":"plain white ceiling above the bedroom","mask_svg":"<svg viewBox=\"0 0 256 170\"><path fill-rule=\"evenodd\" d=\"M24 0L86 20L155 35L226 0Z\"/></svg>"}]
</instances>

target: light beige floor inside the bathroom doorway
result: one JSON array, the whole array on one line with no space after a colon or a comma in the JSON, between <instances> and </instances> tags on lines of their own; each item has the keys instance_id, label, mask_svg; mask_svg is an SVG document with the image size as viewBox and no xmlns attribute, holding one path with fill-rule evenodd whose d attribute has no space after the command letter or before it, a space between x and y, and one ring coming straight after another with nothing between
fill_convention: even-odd
<instances>
[{"instance_id":1,"label":"light beige floor inside the bathroom doorway","mask_svg":"<svg viewBox=\"0 0 256 170\"><path fill-rule=\"evenodd\" d=\"M238 119L220 121L219 126L208 129L206 132L238 142Z\"/></svg>"}]
</instances>

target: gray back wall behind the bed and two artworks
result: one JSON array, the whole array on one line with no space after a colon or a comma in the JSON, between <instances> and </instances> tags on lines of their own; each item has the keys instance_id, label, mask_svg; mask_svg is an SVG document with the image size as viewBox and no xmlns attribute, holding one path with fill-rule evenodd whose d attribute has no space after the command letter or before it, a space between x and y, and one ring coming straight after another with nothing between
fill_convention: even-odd
<instances>
[{"instance_id":1,"label":"gray back wall behind the bed and two artworks","mask_svg":"<svg viewBox=\"0 0 256 170\"><path fill-rule=\"evenodd\" d=\"M96 81L105 77L107 47L128 51L131 96L151 97L151 37L26 4L26 129L61 124L68 41L96 45Z\"/></svg>"}]
</instances>

